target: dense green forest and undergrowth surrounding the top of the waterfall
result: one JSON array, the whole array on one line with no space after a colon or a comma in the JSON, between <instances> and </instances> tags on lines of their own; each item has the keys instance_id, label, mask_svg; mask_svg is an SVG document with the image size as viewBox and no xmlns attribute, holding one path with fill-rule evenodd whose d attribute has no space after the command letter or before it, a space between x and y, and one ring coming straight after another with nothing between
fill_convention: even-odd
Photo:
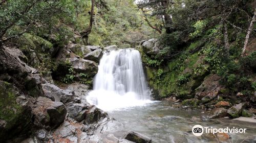
<instances>
[{"instance_id":1,"label":"dense green forest and undergrowth surrounding the top of the waterfall","mask_svg":"<svg viewBox=\"0 0 256 143\"><path fill-rule=\"evenodd\" d=\"M17 45L28 58L34 50L39 63L31 58L28 63L42 74L56 74L54 57L74 35L81 35L83 44L120 48L158 38L157 55L141 50L156 98L194 97L204 78L214 74L229 94L254 94L253 1L7 0L0 5L1 44ZM58 65L67 66L60 81L72 82L72 66Z\"/></svg>"}]
</instances>

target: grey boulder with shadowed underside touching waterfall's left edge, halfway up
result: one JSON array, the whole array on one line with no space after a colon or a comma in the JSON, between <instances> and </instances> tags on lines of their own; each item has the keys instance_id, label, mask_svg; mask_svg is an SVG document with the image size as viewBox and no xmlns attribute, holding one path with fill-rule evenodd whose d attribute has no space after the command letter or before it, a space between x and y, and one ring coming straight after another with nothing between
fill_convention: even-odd
<instances>
[{"instance_id":1,"label":"grey boulder with shadowed underside touching waterfall's left edge, halfway up","mask_svg":"<svg viewBox=\"0 0 256 143\"><path fill-rule=\"evenodd\" d=\"M97 74L98 65L94 61L78 58L70 58L69 61L77 73L84 73L90 76Z\"/></svg>"}]
</instances>

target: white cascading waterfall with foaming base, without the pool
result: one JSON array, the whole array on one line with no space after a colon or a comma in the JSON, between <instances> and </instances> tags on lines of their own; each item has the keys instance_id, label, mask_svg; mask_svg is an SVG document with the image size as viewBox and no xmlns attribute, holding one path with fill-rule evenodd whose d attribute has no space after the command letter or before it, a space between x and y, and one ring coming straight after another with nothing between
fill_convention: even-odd
<instances>
[{"instance_id":1,"label":"white cascading waterfall with foaming base, without the pool","mask_svg":"<svg viewBox=\"0 0 256 143\"><path fill-rule=\"evenodd\" d=\"M104 111L151 103L141 56L133 49L105 52L87 101Z\"/></svg>"}]
</instances>

